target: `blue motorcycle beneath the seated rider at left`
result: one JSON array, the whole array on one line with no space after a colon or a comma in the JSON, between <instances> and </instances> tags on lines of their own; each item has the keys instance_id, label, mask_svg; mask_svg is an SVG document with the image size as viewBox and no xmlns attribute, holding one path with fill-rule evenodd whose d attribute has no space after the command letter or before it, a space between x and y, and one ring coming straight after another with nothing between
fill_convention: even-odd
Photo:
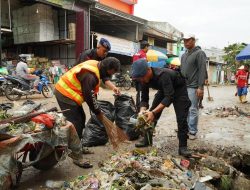
<instances>
[{"instance_id":1,"label":"blue motorcycle beneath the seated rider at left","mask_svg":"<svg viewBox=\"0 0 250 190\"><path fill-rule=\"evenodd\" d=\"M11 100L19 100L22 96L33 94L43 94L45 98L53 96L53 89L51 82L47 76L43 75L41 71L35 72L39 76L40 81L37 86L37 91L33 89L33 82L27 81L21 77L7 75L7 86L5 88L5 96Z\"/></svg>"}]
</instances>

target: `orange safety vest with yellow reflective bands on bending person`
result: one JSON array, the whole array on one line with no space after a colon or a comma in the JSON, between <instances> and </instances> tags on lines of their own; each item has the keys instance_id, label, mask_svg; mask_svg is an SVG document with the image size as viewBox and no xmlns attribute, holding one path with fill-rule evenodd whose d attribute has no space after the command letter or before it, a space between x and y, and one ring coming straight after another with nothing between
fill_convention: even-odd
<instances>
[{"instance_id":1,"label":"orange safety vest with yellow reflective bands on bending person","mask_svg":"<svg viewBox=\"0 0 250 190\"><path fill-rule=\"evenodd\" d=\"M97 94L100 87L100 72L98 69L98 63L99 61L96 60L88 60L73 67L56 83L56 90L71 100L74 100L78 105L82 105L84 102L84 97L82 94L83 89L76 75L84 71L95 74L98 79L98 84L94 89L94 93Z\"/></svg>"}]
</instances>

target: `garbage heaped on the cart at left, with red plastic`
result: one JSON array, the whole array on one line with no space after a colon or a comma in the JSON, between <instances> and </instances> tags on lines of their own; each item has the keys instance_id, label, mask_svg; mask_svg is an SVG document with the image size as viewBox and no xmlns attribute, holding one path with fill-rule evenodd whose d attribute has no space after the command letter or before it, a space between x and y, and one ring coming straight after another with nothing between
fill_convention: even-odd
<instances>
[{"instance_id":1,"label":"garbage heaped on the cart at left, with red plastic","mask_svg":"<svg viewBox=\"0 0 250 190\"><path fill-rule=\"evenodd\" d=\"M40 103L30 100L25 101L22 105L1 104L0 108L1 137L40 132L66 124L62 113L55 112L55 109L45 111L41 109Z\"/></svg>"}]
</instances>

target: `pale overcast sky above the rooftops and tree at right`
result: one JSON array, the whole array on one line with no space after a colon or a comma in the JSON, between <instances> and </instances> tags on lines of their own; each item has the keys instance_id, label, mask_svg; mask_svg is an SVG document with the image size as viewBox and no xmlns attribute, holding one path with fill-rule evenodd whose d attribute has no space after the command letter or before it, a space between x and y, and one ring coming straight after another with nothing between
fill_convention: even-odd
<instances>
[{"instance_id":1,"label":"pale overcast sky above the rooftops and tree at right","mask_svg":"<svg viewBox=\"0 0 250 190\"><path fill-rule=\"evenodd\" d=\"M250 43L250 0L138 0L135 16L195 34L203 47Z\"/></svg>"}]
</instances>

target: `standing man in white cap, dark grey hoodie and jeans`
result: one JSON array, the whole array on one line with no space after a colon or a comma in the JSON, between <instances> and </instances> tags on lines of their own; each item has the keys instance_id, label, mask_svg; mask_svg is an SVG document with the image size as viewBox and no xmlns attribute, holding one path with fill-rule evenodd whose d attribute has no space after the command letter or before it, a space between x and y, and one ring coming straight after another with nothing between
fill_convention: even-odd
<instances>
[{"instance_id":1,"label":"standing man in white cap, dark grey hoodie and jeans","mask_svg":"<svg viewBox=\"0 0 250 190\"><path fill-rule=\"evenodd\" d=\"M181 72L186 78L188 97L191 107L188 114L189 139L197 138L199 99L204 94L204 84L207 75L206 54L199 46L195 46L195 36L184 36L184 45L187 51L181 57Z\"/></svg>"}]
</instances>

